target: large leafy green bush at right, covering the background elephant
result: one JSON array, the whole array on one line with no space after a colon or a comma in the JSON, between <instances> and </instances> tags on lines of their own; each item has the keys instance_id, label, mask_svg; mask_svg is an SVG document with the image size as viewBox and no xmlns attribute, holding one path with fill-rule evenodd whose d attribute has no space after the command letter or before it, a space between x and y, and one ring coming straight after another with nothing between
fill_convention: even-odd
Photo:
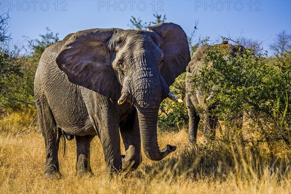
<instances>
[{"instance_id":1,"label":"large leafy green bush at right, covering the background elephant","mask_svg":"<svg viewBox=\"0 0 291 194\"><path fill-rule=\"evenodd\" d=\"M259 134L257 140L270 148L278 142L291 146L291 51L284 58L241 51L227 56L218 47L207 50L201 74L192 77L193 91L199 87L206 96L211 94L210 104L219 102L212 113L225 121L227 130L237 130L227 126L233 126L234 115L243 113Z\"/></svg>"}]
</instances>

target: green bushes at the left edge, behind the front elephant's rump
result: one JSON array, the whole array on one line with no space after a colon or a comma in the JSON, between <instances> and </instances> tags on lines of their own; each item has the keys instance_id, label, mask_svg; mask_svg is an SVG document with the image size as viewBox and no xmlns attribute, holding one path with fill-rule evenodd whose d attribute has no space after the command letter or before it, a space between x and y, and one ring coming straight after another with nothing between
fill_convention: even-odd
<instances>
[{"instance_id":1,"label":"green bushes at the left edge, behind the front elephant's rump","mask_svg":"<svg viewBox=\"0 0 291 194\"><path fill-rule=\"evenodd\" d=\"M8 20L8 16L0 16L0 115L34 108L33 82L39 59L58 41L58 34L47 28L40 40L29 40L31 52L20 55L17 48L7 46L11 39L7 35Z\"/></svg>"}]
</instances>

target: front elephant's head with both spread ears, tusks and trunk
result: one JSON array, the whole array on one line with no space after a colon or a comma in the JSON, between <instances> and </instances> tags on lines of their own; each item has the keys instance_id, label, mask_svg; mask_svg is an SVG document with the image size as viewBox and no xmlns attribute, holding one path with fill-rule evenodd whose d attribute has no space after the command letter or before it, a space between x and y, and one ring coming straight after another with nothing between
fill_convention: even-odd
<instances>
[{"instance_id":1,"label":"front elephant's head with both spread ears, tusks and trunk","mask_svg":"<svg viewBox=\"0 0 291 194\"><path fill-rule=\"evenodd\" d=\"M162 23L144 30L91 29L76 32L61 49L56 62L69 81L105 97L132 103L138 113L146 156L162 160L175 146L162 151L157 141L162 99L176 99L169 86L190 61L182 28Z\"/></svg>"}]
</instances>

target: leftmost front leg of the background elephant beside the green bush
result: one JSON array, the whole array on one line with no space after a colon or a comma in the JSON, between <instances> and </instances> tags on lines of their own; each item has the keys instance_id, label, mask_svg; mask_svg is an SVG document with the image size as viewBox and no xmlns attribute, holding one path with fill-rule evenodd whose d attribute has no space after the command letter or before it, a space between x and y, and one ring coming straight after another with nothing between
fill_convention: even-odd
<instances>
[{"instance_id":1,"label":"leftmost front leg of the background elephant beside the green bush","mask_svg":"<svg viewBox=\"0 0 291 194\"><path fill-rule=\"evenodd\" d=\"M193 103L189 97L189 94L186 93L186 105L189 115L189 143L195 144L197 141L197 130L198 124L200 121L199 115L196 113Z\"/></svg>"}]
</instances>

